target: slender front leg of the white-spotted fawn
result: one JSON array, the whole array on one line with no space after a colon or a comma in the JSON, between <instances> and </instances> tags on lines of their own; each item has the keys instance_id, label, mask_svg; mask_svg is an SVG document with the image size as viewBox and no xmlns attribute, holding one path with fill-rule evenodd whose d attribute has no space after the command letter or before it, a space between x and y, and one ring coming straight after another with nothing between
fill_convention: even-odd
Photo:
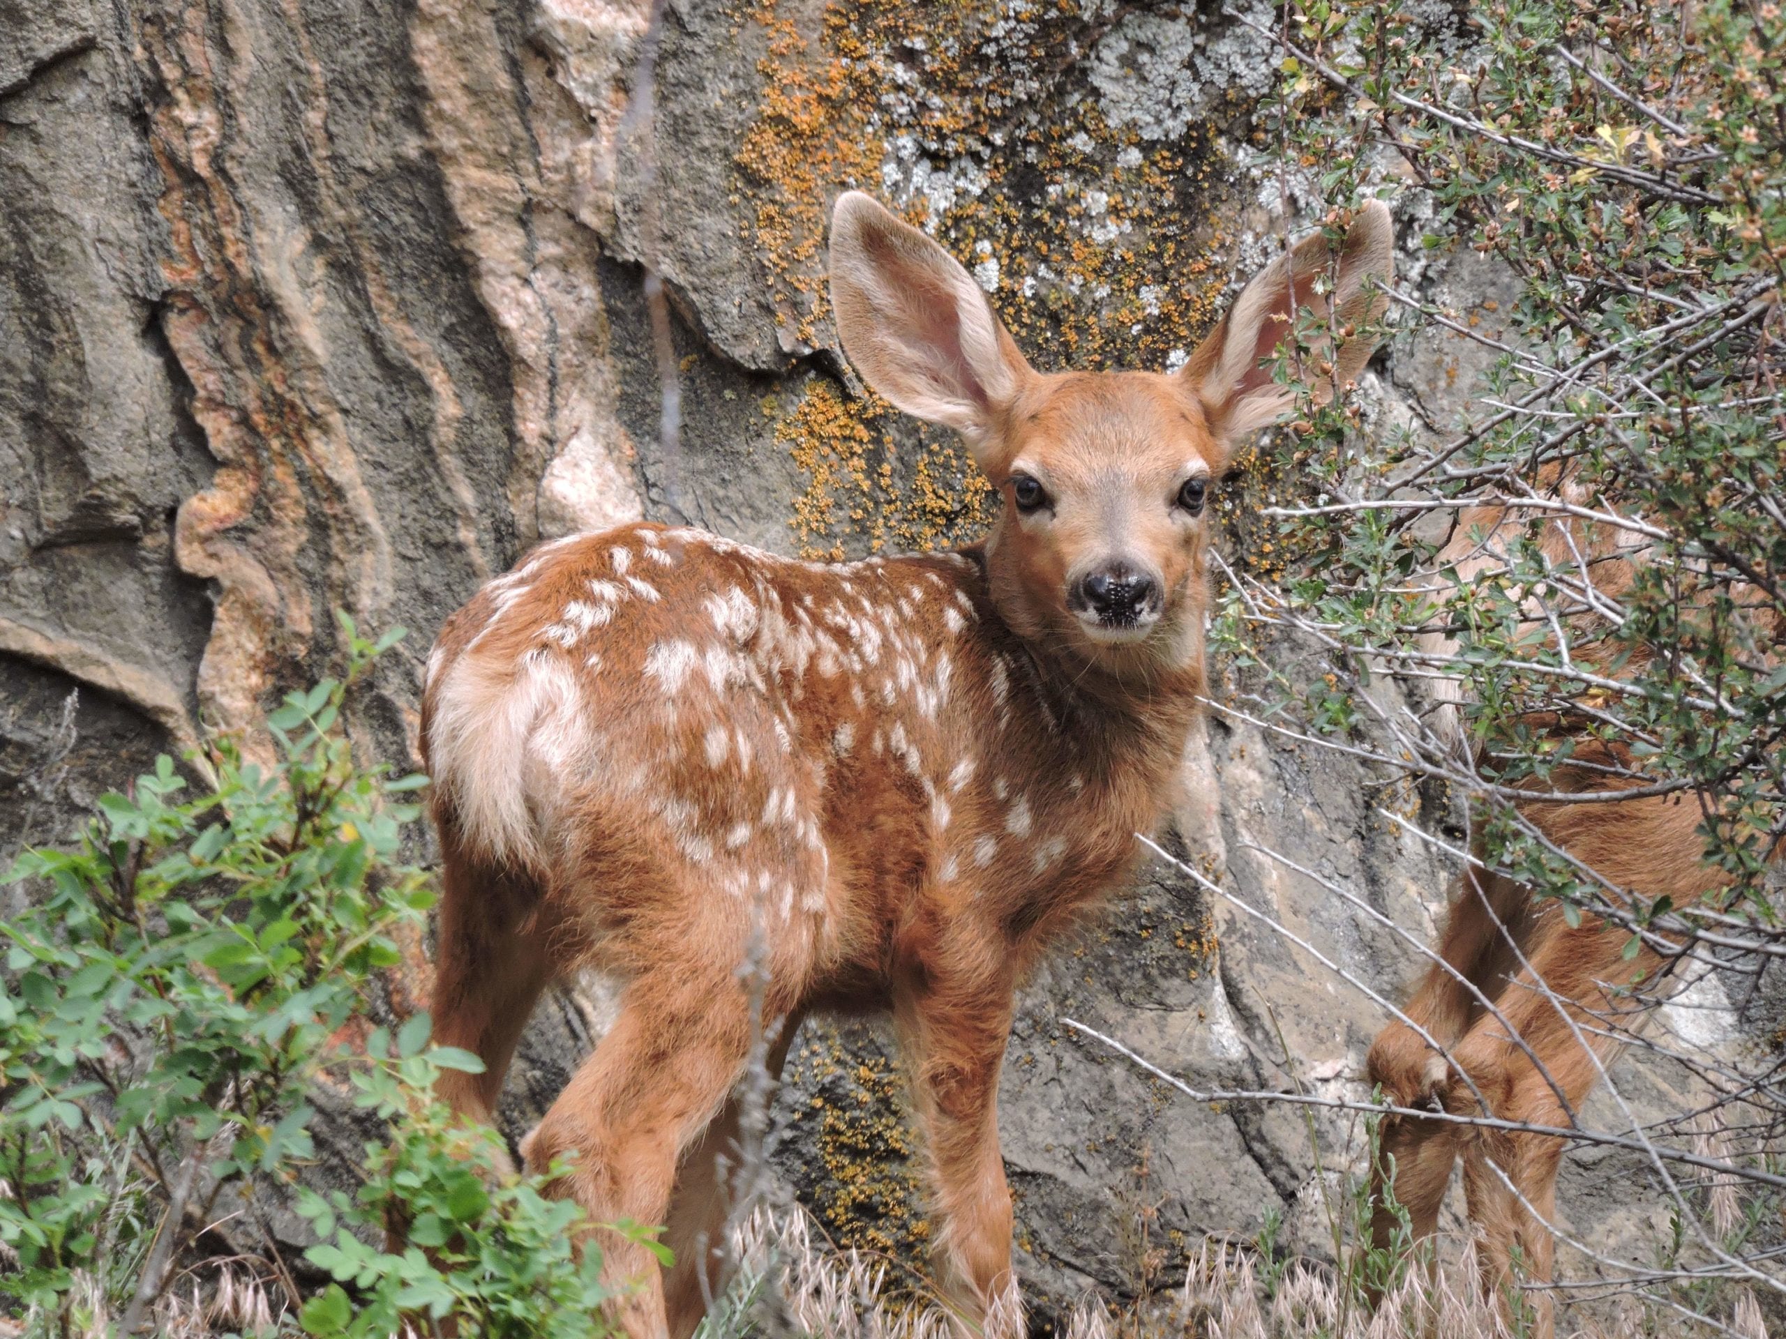
<instances>
[{"instance_id":1,"label":"slender front leg of the white-spotted fawn","mask_svg":"<svg viewBox=\"0 0 1786 1339\"><path fill-rule=\"evenodd\" d=\"M1011 1275L1011 1191L998 1153L998 1069L1016 982L1004 973L927 973L902 987L895 1019L923 1128L948 1296L986 1339L1022 1332Z\"/></svg>"}]
</instances>

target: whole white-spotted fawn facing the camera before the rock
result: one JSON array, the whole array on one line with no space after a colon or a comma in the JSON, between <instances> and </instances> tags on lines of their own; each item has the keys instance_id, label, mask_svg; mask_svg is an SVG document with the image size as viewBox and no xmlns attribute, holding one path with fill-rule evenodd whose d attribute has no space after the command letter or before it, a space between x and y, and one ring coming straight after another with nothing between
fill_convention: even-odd
<instances>
[{"instance_id":1,"label":"whole white-spotted fawn facing the camera before the rock","mask_svg":"<svg viewBox=\"0 0 1786 1339\"><path fill-rule=\"evenodd\" d=\"M843 348L966 441L1002 495L986 541L818 564L641 523L545 545L448 620L423 702L434 1025L488 1068L441 1093L488 1121L541 987L618 978L618 1019L523 1157L575 1155L559 1193L597 1223L668 1225L668 1278L605 1243L611 1277L643 1280L629 1334L689 1334L714 1287L698 1244L725 1223L754 1007L772 1071L809 1010L891 1010L945 1287L984 1332L1020 1325L997 1123L1018 980L1175 798L1209 491L1293 400L1261 359L1302 309L1373 320L1390 273L1372 204L1343 245L1256 277L1182 371L1045 375L947 252L847 193ZM1332 387L1370 353L1314 359Z\"/></svg>"}]
</instances>

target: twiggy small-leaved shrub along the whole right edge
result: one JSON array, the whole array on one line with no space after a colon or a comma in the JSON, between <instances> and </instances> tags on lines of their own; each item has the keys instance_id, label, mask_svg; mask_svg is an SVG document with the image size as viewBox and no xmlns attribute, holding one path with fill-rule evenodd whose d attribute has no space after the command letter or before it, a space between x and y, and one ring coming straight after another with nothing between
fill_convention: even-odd
<instances>
[{"instance_id":1,"label":"twiggy small-leaved shrub along the whole right edge","mask_svg":"<svg viewBox=\"0 0 1786 1339\"><path fill-rule=\"evenodd\" d=\"M1482 375L1425 428L1390 411L1363 430L1368 398L1304 398L1257 462L1286 502L1257 520L1272 557L1236 559L1216 641L1268 678L1259 628L1314 641L1325 680L1277 677L1250 714L1306 737L1370 723L1348 744L1375 750L1386 789L1466 798L1484 862L1736 1005L1704 1016L1741 1016L1747 1048L1645 1037L1693 1091L1645 1139L1723 1162L1704 1184L1654 1162L1675 1239L1661 1264L1600 1264L1686 1316L1754 1305L1729 1284L1777 1300L1786 1103L1763 971L1786 953L1768 878L1786 834L1786 18L1732 0L1304 0L1277 21L1261 171L1336 236L1365 198L1395 198L1413 221L1397 361L1441 386L1468 350ZM1409 282L1407 250L1470 262L1452 271L1463 311ZM1456 293L1470 275L1516 298L1477 305L1490 295ZM1332 368L1311 327L1281 355L1304 389ZM1506 518L1495 543L1459 520L1472 507ZM1472 570L1441 571L1454 539L1475 545ZM1429 698L1370 693L1386 670L1448 680L1463 739ZM1516 803L1561 768L1606 777L1602 798L1675 796L1727 887L1675 907L1561 850Z\"/></svg>"}]
</instances>

